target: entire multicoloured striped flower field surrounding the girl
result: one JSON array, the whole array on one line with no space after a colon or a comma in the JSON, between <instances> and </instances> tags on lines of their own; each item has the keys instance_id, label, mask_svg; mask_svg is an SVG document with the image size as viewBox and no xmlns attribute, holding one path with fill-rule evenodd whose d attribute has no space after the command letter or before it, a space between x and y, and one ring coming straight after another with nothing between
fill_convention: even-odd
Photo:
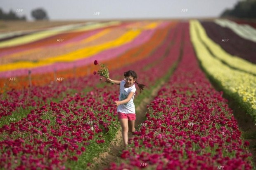
<instances>
[{"instance_id":1,"label":"entire multicoloured striped flower field surrounding the girl","mask_svg":"<svg viewBox=\"0 0 256 170\"><path fill-rule=\"evenodd\" d=\"M222 20L113 21L0 35L0 169L90 169L107 151L121 129L119 86L100 81L95 60L111 79L136 71L146 87L135 107L164 82L107 169L255 169L223 97L256 121L255 42L232 32L234 24L247 28ZM223 35L247 45L222 44Z\"/></svg>"}]
</instances>

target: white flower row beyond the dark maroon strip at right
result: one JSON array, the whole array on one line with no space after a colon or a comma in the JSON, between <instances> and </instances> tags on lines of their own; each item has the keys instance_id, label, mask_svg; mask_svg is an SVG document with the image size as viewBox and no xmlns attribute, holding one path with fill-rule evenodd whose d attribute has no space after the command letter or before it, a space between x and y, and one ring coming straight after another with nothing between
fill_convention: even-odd
<instances>
[{"instance_id":1,"label":"white flower row beyond the dark maroon strip at right","mask_svg":"<svg viewBox=\"0 0 256 170\"><path fill-rule=\"evenodd\" d=\"M227 19L216 19L215 23L222 27L230 28L240 37L256 42L256 29L247 24L237 24Z\"/></svg>"}]
</instances>

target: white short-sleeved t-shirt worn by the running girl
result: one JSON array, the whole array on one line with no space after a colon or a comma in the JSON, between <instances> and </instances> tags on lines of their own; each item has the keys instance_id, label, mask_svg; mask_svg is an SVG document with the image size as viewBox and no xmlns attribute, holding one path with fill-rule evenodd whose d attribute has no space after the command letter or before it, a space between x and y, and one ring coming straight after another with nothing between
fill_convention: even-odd
<instances>
[{"instance_id":1,"label":"white short-sleeved t-shirt worn by the running girl","mask_svg":"<svg viewBox=\"0 0 256 170\"><path fill-rule=\"evenodd\" d=\"M126 84L126 82L124 80L122 80L120 83L119 101L125 100L128 97L130 92L134 92L134 95L128 103L119 105L117 107L117 112L126 113L126 114L127 113L135 114L135 105L133 103L133 99L134 99L135 91L136 91L135 84L133 84L133 86L128 87L128 88L124 87L125 84Z\"/></svg>"}]
</instances>

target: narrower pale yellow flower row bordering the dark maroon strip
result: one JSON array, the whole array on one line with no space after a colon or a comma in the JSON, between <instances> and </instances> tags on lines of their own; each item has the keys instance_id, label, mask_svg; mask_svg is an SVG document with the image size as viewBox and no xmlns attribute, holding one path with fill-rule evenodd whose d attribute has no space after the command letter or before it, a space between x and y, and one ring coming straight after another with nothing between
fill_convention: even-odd
<instances>
[{"instance_id":1,"label":"narrower pale yellow flower row bordering the dark maroon strip","mask_svg":"<svg viewBox=\"0 0 256 170\"><path fill-rule=\"evenodd\" d=\"M215 43L211 38L207 36L206 31L204 30L203 26L199 21L193 21L195 27L197 27L197 31L199 33L199 37L201 40L206 44L207 47L211 50L211 52L219 58L220 60L224 61L228 65L237 68L239 70L244 70L246 72L252 73L256 75L256 65L246 61L242 58L237 56L232 56L231 54L227 53L225 50L221 48L221 46ZM227 42L228 43L228 42Z\"/></svg>"}]
</instances>

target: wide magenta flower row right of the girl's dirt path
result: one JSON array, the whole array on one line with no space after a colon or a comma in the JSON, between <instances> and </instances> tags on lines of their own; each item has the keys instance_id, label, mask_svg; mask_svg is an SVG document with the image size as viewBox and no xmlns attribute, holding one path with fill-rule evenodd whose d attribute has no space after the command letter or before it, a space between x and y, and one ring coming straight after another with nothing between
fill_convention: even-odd
<instances>
[{"instance_id":1,"label":"wide magenta flower row right of the girl's dirt path","mask_svg":"<svg viewBox=\"0 0 256 170\"><path fill-rule=\"evenodd\" d=\"M184 23L183 58L171 79L148 105L147 120L109 170L252 168L249 142L221 92L201 72Z\"/></svg>"}]
</instances>

